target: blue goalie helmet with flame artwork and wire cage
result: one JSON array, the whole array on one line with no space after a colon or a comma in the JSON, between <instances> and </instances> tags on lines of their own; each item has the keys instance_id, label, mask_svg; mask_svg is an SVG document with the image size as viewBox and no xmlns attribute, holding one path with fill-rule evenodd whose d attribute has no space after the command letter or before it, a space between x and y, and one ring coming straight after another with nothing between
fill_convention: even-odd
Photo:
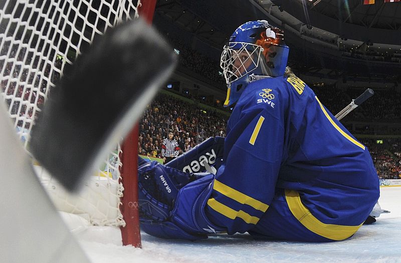
<instances>
[{"instance_id":1,"label":"blue goalie helmet with flame artwork and wire cage","mask_svg":"<svg viewBox=\"0 0 401 263\"><path fill-rule=\"evenodd\" d=\"M220 59L227 82L225 107L238 101L250 80L256 76L283 76L288 60L283 31L265 20L241 25L230 37Z\"/></svg>"}]
</instances>

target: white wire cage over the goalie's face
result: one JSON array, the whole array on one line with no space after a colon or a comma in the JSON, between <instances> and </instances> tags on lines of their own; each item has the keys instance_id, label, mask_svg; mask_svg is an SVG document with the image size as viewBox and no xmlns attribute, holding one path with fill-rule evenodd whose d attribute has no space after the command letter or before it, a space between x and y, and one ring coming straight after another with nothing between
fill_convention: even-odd
<instances>
[{"instance_id":1,"label":"white wire cage over the goalie's face","mask_svg":"<svg viewBox=\"0 0 401 263\"><path fill-rule=\"evenodd\" d=\"M250 43L230 42L226 45L220 58L220 67L227 84L255 71L259 67L262 52L261 46Z\"/></svg>"}]
</instances>

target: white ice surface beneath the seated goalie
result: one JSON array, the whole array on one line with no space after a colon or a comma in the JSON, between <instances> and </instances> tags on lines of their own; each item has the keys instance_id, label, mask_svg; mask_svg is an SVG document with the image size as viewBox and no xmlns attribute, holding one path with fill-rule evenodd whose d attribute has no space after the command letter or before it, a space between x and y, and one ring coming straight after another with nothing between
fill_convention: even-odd
<instances>
[{"instance_id":1,"label":"white ice surface beneath the seated goalie","mask_svg":"<svg viewBox=\"0 0 401 263\"><path fill-rule=\"evenodd\" d=\"M142 249L121 245L112 227L77 227L94 263L114 262L401 262L401 187L380 188L382 214L354 236L332 243L255 241L249 235L215 235L201 241L163 240L142 233Z\"/></svg>"}]
</instances>

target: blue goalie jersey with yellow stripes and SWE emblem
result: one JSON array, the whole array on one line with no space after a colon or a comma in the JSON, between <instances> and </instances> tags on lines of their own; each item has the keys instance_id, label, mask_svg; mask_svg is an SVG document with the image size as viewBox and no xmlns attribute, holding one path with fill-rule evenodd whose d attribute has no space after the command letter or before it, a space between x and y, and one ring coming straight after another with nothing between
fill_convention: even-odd
<instances>
[{"instance_id":1,"label":"blue goalie jersey with yellow stripes and SWE emblem","mask_svg":"<svg viewBox=\"0 0 401 263\"><path fill-rule=\"evenodd\" d=\"M290 75L246 87L206 213L229 234L332 241L355 233L378 197L366 146Z\"/></svg>"}]
</instances>

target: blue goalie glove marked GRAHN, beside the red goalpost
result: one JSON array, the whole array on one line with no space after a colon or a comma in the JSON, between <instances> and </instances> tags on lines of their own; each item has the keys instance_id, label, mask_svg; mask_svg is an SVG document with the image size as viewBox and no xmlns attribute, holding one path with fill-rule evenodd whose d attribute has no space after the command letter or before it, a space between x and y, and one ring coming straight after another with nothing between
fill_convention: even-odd
<instances>
[{"instance_id":1,"label":"blue goalie glove marked GRAHN, beside the red goalpost","mask_svg":"<svg viewBox=\"0 0 401 263\"><path fill-rule=\"evenodd\" d=\"M205 214L214 174L184 173L158 162L138 168L141 229L161 238L197 240L225 229Z\"/></svg>"}]
</instances>

